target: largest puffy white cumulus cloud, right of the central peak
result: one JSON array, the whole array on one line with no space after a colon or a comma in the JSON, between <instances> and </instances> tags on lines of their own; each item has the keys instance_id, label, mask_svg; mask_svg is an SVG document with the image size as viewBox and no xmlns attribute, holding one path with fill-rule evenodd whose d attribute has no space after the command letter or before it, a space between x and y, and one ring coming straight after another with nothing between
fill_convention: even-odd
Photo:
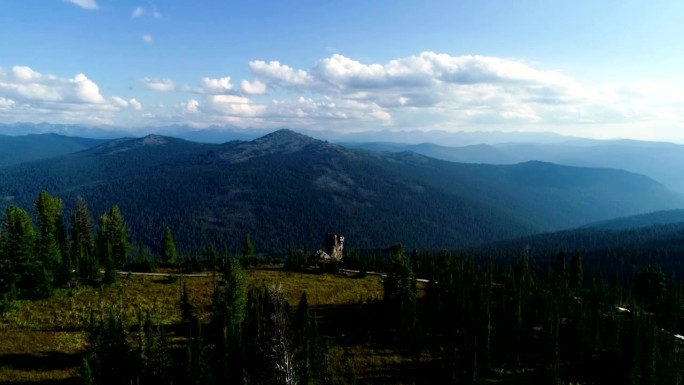
<instances>
[{"instance_id":1,"label":"largest puffy white cumulus cloud, right of the central peak","mask_svg":"<svg viewBox=\"0 0 684 385\"><path fill-rule=\"evenodd\" d=\"M306 70L278 61L252 61L250 69L267 86L332 98L337 109L349 108L350 101L375 106L363 118L385 124L413 122L411 114L454 125L537 123L563 106L591 103L593 97L560 72L477 55L423 52L368 64L333 54Z\"/></svg>"}]
</instances>

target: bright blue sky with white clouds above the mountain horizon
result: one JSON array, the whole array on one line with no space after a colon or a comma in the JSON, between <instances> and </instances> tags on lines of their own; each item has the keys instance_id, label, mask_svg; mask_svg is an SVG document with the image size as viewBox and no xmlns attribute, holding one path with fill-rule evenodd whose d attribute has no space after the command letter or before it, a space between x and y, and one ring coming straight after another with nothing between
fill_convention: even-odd
<instances>
[{"instance_id":1,"label":"bright blue sky with white clouds above the mountain horizon","mask_svg":"<svg viewBox=\"0 0 684 385\"><path fill-rule=\"evenodd\" d=\"M684 143L682 15L663 0L0 0L0 123Z\"/></svg>"}]
</instances>

